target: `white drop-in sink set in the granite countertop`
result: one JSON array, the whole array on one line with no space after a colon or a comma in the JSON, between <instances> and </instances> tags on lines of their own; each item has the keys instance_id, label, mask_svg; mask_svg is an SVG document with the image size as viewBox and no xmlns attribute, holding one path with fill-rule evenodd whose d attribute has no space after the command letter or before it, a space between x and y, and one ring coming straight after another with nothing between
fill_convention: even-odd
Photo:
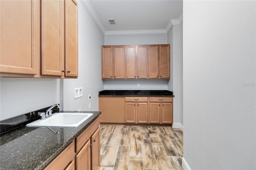
<instances>
[{"instance_id":1,"label":"white drop-in sink set in the granite countertop","mask_svg":"<svg viewBox=\"0 0 256 170\"><path fill-rule=\"evenodd\" d=\"M54 113L46 119L39 119L27 124L27 127L78 127L92 113Z\"/></svg>"}]
</instances>

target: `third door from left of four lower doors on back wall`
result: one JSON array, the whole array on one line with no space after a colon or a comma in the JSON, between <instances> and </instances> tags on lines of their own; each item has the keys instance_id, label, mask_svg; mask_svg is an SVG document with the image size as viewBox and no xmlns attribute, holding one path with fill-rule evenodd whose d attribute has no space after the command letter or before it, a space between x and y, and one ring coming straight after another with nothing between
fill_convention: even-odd
<instances>
[{"instance_id":1,"label":"third door from left of four lower doors on back wall","mask_svg":"<svg viewBox=\"0 0 256 170\"><path fill-rule=\"evenodd\" d=\"M149 104L149 123L160 123L160 103Z\"/></svg>"}]
</instances>

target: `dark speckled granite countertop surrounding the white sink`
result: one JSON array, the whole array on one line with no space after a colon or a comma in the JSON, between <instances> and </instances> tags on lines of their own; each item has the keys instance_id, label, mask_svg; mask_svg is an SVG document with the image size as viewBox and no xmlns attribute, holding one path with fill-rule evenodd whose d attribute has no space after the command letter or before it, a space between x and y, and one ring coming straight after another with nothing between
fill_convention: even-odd
<instances>
[{"instance_id":1,"label":"dark speckled granite countertop surrounding the white sink","mask_svg":"<svg viewBox=\"0 0 256 170\"><path fill-rule=\"evenodd\" d=\"M74 111L60 111L63 112L74 113ZM1 135L0 169L43 169L101 112L81 111L80 113L93 113L93 115L76 128L52 127L56 132L60 130L58 134L47 127L21 127Z\"/></svg>"}]
</instances>

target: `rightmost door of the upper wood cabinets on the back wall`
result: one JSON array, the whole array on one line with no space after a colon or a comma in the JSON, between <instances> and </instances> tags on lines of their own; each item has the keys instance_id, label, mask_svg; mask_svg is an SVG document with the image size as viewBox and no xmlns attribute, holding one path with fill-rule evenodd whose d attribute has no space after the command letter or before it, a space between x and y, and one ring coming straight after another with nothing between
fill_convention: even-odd
<instances>
[{"instance_id":1,"label":"rightmost door of the upper wood cabinets on the back wall","mask_svg":"<svg viewBox=\"0 0 256 170\"><path fill-rule=\"evenodd\" d=\"M159 45L160 79L170 79L170 45Z\"/></svg>"}]
</instances>

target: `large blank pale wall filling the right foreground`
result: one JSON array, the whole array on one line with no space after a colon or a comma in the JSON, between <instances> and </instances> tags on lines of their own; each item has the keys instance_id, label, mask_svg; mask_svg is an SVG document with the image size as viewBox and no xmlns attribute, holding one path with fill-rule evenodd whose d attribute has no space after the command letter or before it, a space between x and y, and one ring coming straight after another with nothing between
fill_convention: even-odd
<instances>
[{"instance_id":1,"label":"large blank pale wall filling the right foreground","mask_svg":"<svg viewBox=\"0 0 256 170\"><path fill-rule=\"evenodd\" d=\"M256 169L256 1L183 1L184 161Z\"/></svg>"}]
</instances>

